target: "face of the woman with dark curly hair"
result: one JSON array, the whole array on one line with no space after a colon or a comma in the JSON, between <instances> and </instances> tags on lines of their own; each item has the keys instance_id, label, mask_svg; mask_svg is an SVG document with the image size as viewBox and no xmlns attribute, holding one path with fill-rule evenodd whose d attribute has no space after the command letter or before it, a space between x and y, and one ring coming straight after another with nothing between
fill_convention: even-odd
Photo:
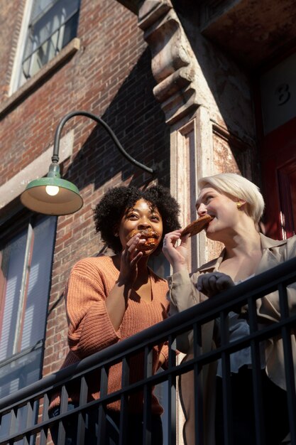
<instances>
[{"instance_id":1,"label":"face of the woman with dark curly hair","mask_svg":"<svg viewBox=\"0 0 296 445\"><path fill-rule=\"evenodd\" d=\"M126 242L130 239L133 230L152 229L157 232L159 237L155 241L155 247L151 250L146 250L144 254L150 255L158 247L163 235L163 219L158 211L158 208L152 208L152 205L144 200L139 199L133 207L126 210L126 213L121 218L119 223L119 238L122 247L126 247Z\"/></svg>"}]
</instances>

